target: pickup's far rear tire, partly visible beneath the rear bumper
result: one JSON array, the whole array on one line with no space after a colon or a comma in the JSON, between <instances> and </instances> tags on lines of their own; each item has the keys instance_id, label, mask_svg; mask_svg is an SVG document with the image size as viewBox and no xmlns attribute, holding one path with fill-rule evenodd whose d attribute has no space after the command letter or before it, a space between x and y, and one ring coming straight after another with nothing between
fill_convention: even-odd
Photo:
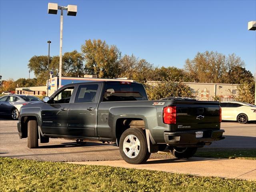
<instances>
[{"instance_id":1,"label":"pickup's far rear tire, partly visible beneath the rear bumper","mask_svg":"<svg viewBox=\"0 0 256 192\"><path fill-rule=\"evenodd\" d=\"M174 147L170 149L173 156L178 159L187 159L196 153L197 147Z\"/></svg>"}]
</instances>

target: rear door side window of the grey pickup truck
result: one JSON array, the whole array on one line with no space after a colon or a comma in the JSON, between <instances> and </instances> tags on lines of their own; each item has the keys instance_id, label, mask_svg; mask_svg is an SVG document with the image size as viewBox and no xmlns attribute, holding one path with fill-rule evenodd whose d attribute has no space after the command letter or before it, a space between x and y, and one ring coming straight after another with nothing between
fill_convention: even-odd
<instances>
[{"instance_id":1,"label":"rear door side window of the grey pickup truck","mask_svg":"<svg viewBox=\"0 0 256 192\"><path fill-rule=\"evenodd\" d=\"M78 87L75 103L89 103L95 101L98 84L80 85Z\"/></svg>"}]
</instances>

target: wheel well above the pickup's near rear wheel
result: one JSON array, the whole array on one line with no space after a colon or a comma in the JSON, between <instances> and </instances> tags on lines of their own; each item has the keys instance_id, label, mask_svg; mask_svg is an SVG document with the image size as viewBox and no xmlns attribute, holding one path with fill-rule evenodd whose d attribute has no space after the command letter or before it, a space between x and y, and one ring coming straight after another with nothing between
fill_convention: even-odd
<instances>
[{"instance_id":1,"label":"wheel well above the pickup's near rear wheel","mask_svg":"<svg viewBox=\"0 0 256 192\"><path fill-rule=\"evenodd\" d=\"M145 122L139 118L120 118L116 121L116 142L119 146L119 140L122 133L128 128L145 129Z\"/></svg>"}]
</instances>

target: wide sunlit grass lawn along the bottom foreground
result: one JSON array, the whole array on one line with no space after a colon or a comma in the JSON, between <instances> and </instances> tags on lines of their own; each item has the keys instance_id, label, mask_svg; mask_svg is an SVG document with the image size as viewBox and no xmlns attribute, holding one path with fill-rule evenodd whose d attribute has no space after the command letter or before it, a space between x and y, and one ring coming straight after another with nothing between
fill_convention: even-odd
<instances>
[{"instance_id":1,"label":"wide sunlit grass lawn along the bottom foreground","mask_svg":"<svg viewBox=\"0 0 256 192\"><path fill-rule=\"evenodd\" d=\"M0 191L252 192L256 181L0 158Z\"/></svg>"}]
</instances>

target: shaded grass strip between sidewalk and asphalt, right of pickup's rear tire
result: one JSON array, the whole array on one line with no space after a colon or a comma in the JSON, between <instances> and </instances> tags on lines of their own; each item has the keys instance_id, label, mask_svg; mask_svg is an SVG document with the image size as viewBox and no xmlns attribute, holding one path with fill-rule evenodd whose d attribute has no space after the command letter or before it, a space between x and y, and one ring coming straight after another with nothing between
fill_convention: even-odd
<instances>
[{"instance_id":1,"label":"shaded grass strip between sidewalk and asphalt, right of pickup's rear tire","mask_svg":"<svg viewBox=\"0 0 256 192\"><path fill-rule=\"evenodd\" d=\"M232 149L232 150L198 150L195 157L209 157L209 158L228 158L228 159L248 159L256 160L256 149Z\"/></svg>"}]
</instances>

